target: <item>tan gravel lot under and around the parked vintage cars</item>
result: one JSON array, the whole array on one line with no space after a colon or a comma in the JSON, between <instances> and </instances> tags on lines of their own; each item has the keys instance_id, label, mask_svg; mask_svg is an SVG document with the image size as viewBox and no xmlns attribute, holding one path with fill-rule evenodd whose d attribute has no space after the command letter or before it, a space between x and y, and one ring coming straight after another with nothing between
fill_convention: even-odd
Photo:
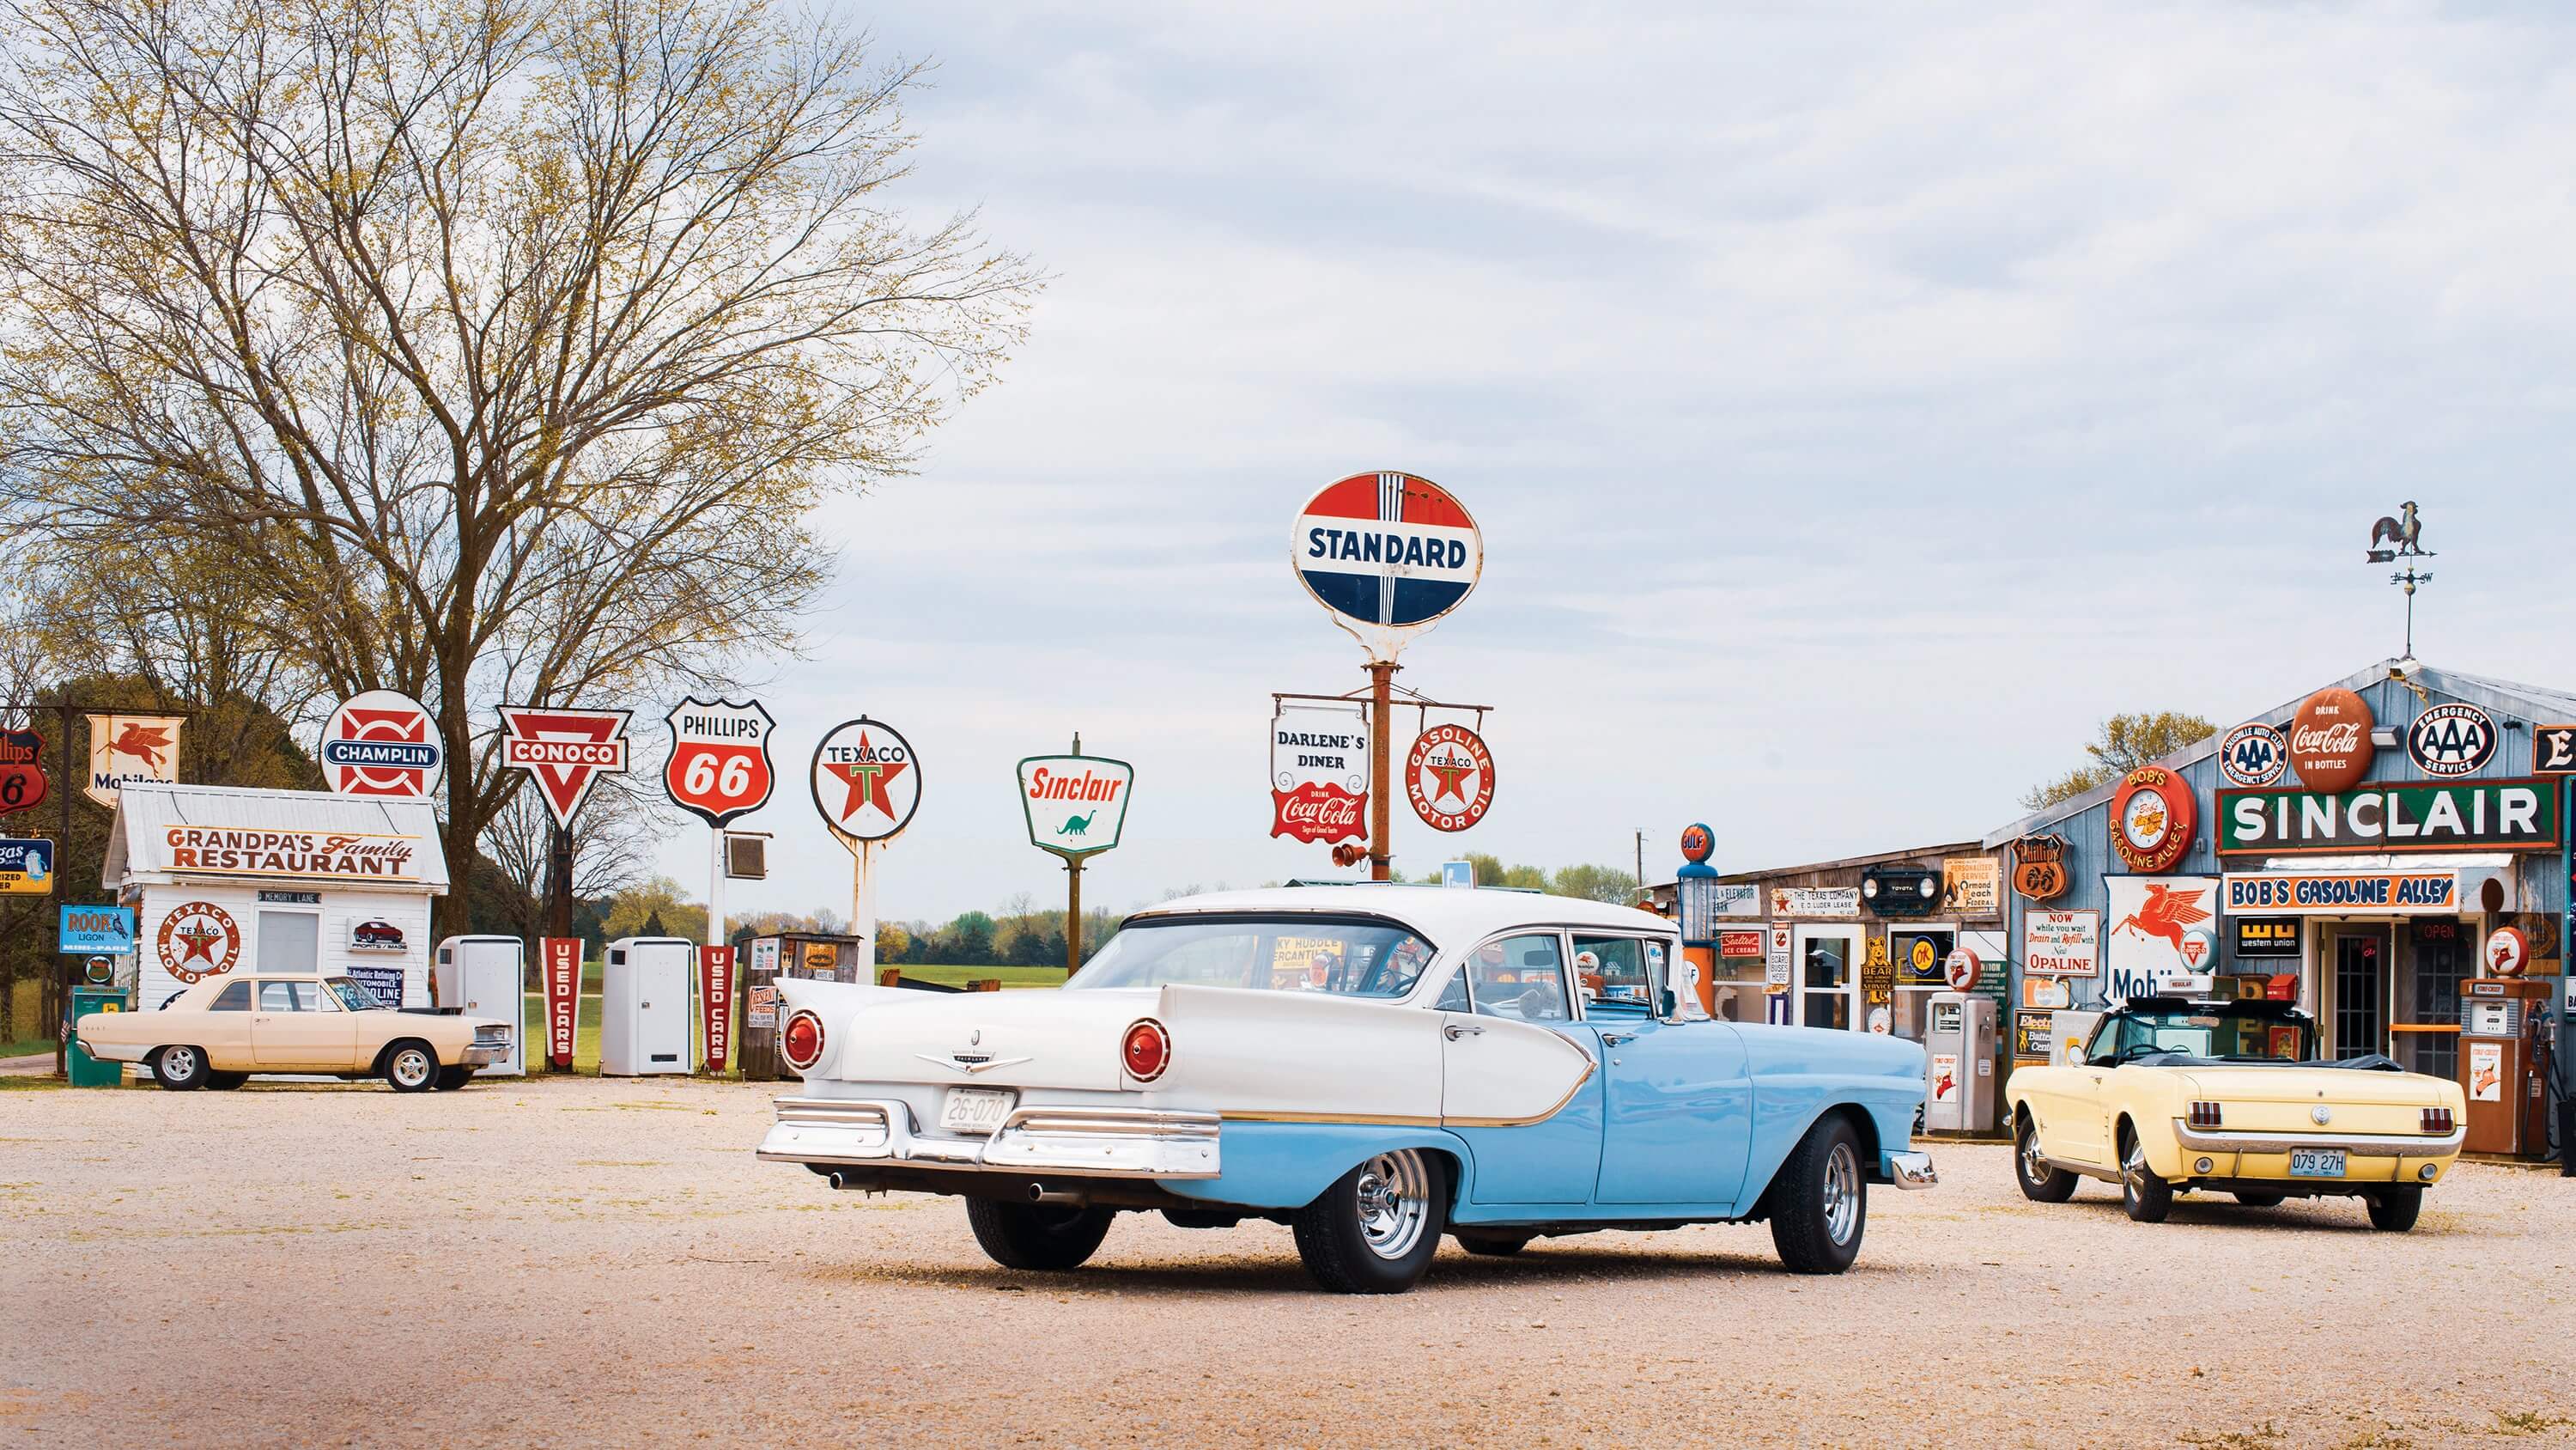
<instances>
[{"instance_id":1,"label":"tan gravel lot under and around the parked vintage cars","mask_svg":"<svg viewBox=\"0 0 2576 1450\"><path fill-rule=\"evenodd\" d=\"M1837 1280L1716 1226L1358 1301L1265 1223L997 1270L953 1200L752 1162L773 1092L0 1092L0 1437L2576 1442L2576 1182L2527 1169L2460 1169L2411 1236L2352 1200L2143 1229L1935 1146Z\"/></svg>"}]
</instances>

